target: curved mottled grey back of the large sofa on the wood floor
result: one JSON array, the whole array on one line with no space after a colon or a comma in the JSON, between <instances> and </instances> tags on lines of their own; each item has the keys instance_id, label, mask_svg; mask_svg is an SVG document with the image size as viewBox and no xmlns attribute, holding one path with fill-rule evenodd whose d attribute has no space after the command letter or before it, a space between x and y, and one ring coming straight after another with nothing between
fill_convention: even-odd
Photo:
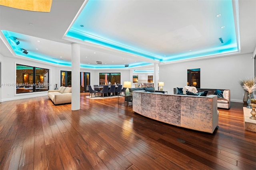
<instances>
[{"instance_id":1,"label":"curved mottled grey back of the large sofa on the wood floor","mask_svg":"<svg viewBox=\"0 0 256 170\"><path fill-rule=\"evenodd\" d=\"M171 125L213 133L218 124L217 96L185 96L133 91L134 112Z\"/></svg>"}]
</instances>

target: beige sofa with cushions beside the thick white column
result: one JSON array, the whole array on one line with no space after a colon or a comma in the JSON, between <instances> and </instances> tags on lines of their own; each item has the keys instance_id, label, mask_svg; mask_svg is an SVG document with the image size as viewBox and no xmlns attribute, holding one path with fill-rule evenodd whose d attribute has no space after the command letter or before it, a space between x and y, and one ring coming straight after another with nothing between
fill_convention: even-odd
<instances>
[{"instance_id":1,"label":"beige sofa with cushions beside the thick white column","mask_svg":"<svg viewBox=\"0 0 256 170\"><path fill-rule=\"evenodd\" d=\"M61 86L59 90L48 90L48 97L54 104L71 103L71 87Z\"/></svg>"}]
</instances>

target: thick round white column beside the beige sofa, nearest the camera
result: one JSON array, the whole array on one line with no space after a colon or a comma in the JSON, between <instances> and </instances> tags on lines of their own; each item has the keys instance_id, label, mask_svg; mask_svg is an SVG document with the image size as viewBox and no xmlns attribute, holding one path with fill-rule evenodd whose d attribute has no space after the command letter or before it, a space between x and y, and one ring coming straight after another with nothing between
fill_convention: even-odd
<instances>
[{"instance_id":1,"label":"thick round white column beside the beige sofa, nearest the camera","mask_svg":"<svg viewBox=\"0 0 256 170\"><path fill-rule=\"evenodd\" d=\"M71 49L72 65L72 99L71 110L80 109L80 45L72 43Z\"/></svg>"}]
</instances>

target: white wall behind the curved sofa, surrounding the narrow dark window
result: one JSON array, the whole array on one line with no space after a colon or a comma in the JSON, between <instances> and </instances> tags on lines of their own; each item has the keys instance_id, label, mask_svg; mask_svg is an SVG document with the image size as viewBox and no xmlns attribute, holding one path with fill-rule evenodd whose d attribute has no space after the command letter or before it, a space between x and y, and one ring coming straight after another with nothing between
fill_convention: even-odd
<instances>
[{"instance_id":1,"label":"white wall behind the curved sofa, surrounding the narrow dark window","mask_svg":"<svg viewBox=\"0 0 256 170\"><path fill-rule=\"evenodd\" d=\"M200 68L200 88L230 89L232 102L243 102L244 90L239 82L254 76L252 53L166 64L159 66L163 90L173 94L173 88L186 86L187 69L192 68Z\"/></svg>"}]
</instances>

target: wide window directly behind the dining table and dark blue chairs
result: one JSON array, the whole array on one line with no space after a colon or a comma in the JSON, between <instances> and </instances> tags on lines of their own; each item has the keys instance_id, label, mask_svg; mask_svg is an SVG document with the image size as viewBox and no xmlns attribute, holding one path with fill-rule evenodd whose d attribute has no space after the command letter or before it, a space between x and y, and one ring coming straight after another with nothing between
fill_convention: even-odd
<instances>
[{"instance_id":1,"label":"wide window directly behind the dining table and dark blue chairs","mask_svg":"<svg viewBox=\"0 0 256 170\"><path fill-rule=\"evenodd\" d=\"M100 73L100 85L102 84L121 84L121 73Z\"/></svg>"}]
</instances>

